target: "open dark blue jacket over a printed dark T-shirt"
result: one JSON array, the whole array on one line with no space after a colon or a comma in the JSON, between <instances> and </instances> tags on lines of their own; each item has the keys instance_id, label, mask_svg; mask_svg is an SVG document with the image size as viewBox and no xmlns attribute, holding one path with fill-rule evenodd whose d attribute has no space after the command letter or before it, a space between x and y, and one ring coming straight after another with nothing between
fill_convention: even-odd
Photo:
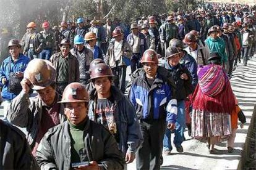
<instances>
[{"instance_id":1,"label":"open dark blue jacket over a printed dark T-shirt","mask_svg":"<svg viewBox=\"0 0 256 170\"><path fill-rule=\"evenodd\" d=\"M119 149L124 156L127 150L135 153L143 141L140 131L140 124L136 117L134 107L129 99L114 86L111 86L111 94L114 97L114 118L119 132ZM90 103L88 116L95 121L95 99L97 96L96 89L90 91Z\"/></svg>"}]
</instances>

